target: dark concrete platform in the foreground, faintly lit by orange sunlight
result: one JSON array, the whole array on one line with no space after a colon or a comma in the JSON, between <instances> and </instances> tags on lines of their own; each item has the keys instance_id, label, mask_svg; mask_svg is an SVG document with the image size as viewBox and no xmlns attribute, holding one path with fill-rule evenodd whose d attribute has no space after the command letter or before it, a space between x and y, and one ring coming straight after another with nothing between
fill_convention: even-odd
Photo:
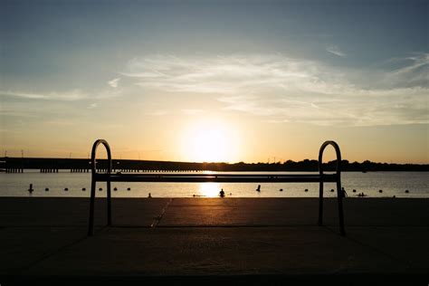
<instances>
[{"instance_id":1,"label":"dark concrete platform in the foreground, faintly lit by orange sunlight","mask_svg":"<svg viewBox=\"0 0 429 286\"><path fill-rule=\"evenodd\" d=\"M388 284L429 282L429 200L0 198L0 283Z\"/></svg>"}]
</instances>

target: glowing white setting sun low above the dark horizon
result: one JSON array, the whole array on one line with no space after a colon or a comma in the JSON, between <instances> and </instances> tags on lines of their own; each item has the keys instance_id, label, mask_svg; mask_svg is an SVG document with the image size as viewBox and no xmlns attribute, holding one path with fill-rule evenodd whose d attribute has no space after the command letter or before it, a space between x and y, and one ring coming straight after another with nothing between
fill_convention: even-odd
<instances>
[{"instance_id":1,"label":"glowing white setting sun low above the dark horizon","mask_svg":"<svg viewBox=\"0 0 429 286\"><path fill-rule=\"evenodd\" d=\"M194 162L231 162L236 157L237 139L232 129L200 125L187 132L185 155Z\"/></svg>"}]
</instances>

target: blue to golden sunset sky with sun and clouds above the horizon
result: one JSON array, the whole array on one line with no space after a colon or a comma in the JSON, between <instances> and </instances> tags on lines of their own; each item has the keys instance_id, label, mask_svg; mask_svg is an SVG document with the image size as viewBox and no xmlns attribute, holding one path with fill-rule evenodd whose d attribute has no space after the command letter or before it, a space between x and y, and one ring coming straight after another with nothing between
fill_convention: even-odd
<instances>
[{"instance_id":1,"label":"blue to golden sunset sky with sun and clouds above the horizon","mask_svg":"<svg viewBox=\"0 0 429 286\"><path fill-rule=\"evenodd\" d=\"M427 164L428 29L415 0L0 0L1 156Z\"/></svg>"}]
</instances>

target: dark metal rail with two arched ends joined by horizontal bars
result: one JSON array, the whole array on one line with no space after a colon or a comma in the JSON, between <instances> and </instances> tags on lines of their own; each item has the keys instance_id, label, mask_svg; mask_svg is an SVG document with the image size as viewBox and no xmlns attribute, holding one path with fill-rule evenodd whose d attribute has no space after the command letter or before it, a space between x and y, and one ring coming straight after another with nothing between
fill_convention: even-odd
<instances>
[{"instance_id":1,"label":"dark metal rail with two arched ends joined by horizontal bars","mask_svg":"<svg viewBox=\"0 0 429 286\"><path fill-rule=\"evenodd\" d=\"M97 147L102 144L108 153L108 168L107 173L97 173L96 167L96 151ZM324 174L322 169L323 151L328 146L332 145L337 153L337 172L336 174ZM94 142L91 152L91 203L90 203L90 224L88 235L93 234L94 225L94 201L95 188L97 182L107 183L107 206L108 206L108 225L111 225L111 194L110 182L216 182L216 183L244 183L244 182L271 182L271 183L319 183L319 225L322 225L323 217L323 183L337 183L338 195L338 216L339 216L339 231L341 235L345 235L344 215L342 205L342 190L341 190L341 153L338 144L334 141L326 141L322 144L319 150L319 175L314 174L112 174L111 173L111 153L110 147L106 140L98 139Z\"/></svg>"}]
</instances>

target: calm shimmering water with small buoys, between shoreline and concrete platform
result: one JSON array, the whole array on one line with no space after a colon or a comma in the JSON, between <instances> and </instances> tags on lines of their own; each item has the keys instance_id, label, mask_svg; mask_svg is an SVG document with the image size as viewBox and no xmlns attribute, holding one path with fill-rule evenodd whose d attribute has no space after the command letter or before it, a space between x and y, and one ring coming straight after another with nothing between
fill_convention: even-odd
<instances>
[{"instance_id":1,"label":"calm shimmering water with small buoys, between shoreline and concrete platform","mask_svg":"<svg viewBox=\"0 0 429 286\"><path fill-rule=\"evenodd\" d=\"M263 174L263 172L259 172ZM293 174L279 172L278 174ZM364 192L368 197L429 197L429 176L427 172L345 172L341 174L342 186L348 196ZM27 170L24 174L0 173L0 196L30 196L27 191L33 184L32 196L90 196L91 174L60 172L41 174ZM116 197L211 197L218 195L221 188L226 196L232 197L315 197L319 196L318 183L262 183L261 192L256 192L258 184L253 183L112 183L112 196ZM69 190L64 191L67 187ZM102 187L102 191L99 188ZM113 191L117 187L118 191ZM131 188L130 191L127 188ZM49 191L45 191L49 188ZM86 191L82 191L86 188ZM281 192L280 189L283 189ZM325 196L335 196L330 189L335 184L325 184ZM308 192L304 190L308 189ZM357 192L353 193L352 190ZM379 193L379 190L383 193ZM406 194L405 190L409 190ZM98 183L97 196L106 195L106 184Z\"/></svg>"}]
</instances>

